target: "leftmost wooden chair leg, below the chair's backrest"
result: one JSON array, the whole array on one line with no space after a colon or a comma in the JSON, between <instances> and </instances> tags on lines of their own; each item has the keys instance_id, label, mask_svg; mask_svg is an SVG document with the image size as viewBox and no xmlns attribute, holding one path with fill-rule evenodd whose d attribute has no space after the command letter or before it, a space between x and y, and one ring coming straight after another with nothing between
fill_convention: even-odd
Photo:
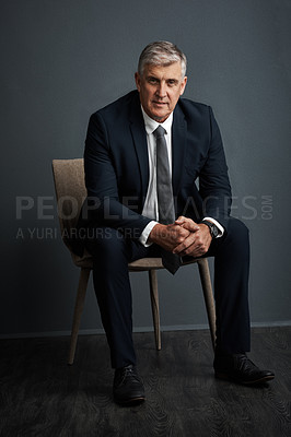
<instances>
[{"instance_id":1,"label":"leftmost wooden chair leg, below the chair's backrest","mask_svg":"<svg viewBox=\"0 0 291 437\"><path fill-rule=\"evenodd\" d=\"M73 359L74 359L78 332L79 332L79 328L80 328L81 316L82 316L83 308L84 308L84 300L85 300L89 276L90 276L90 269L82 268L81 272L80 272L78 292L77 292L77 297L75 297L75 303L74 303L71 342L70 342L69 358L68 358L68 364L70 364L70 365L73 364Z\"/></svg>"}]
</instances>

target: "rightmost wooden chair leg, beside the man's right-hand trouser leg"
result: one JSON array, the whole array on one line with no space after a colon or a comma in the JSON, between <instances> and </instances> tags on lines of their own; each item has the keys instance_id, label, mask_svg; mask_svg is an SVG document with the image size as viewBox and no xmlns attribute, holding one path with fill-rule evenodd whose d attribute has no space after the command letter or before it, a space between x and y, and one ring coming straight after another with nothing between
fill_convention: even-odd
<instances>
[{"instance_id":1,"label":"rightmost wooden chair leg, beside the man's right-hand trouser leg","mask_svg":"<svg viewBox=\"0 0 291 437\"><path fill-rule=\"evenodd\" d=\"M209 264L206 258L201 258L198 261L198 269L200 273L200 281L205 295L205 303L208 316L208 322L211 333L211 341L213 350L216 349L216 305L211 285L211 277L209 272Z\"/></svg>"}]
</instances>

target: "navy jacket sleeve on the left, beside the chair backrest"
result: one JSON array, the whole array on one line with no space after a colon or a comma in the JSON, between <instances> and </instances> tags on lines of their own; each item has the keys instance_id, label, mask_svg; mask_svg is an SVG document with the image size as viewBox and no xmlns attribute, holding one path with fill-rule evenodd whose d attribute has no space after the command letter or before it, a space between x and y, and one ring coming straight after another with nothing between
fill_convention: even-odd
<instances>
[{"instance_id":1,"label":"navy jacket sleeve on the left, beside the chair backrest","mask_svg":"<svg viewBox=\"0 0 291 437\"><path fill-rule=\"evenodd\" d=\"M91 116L84 150L84 170L88 199L82 218L91 226L118 228L130 238L138 239L150 222L128 208L120 198L116 163L109 143L106 123L100 113Z\"/></svg>"}]
</instances>

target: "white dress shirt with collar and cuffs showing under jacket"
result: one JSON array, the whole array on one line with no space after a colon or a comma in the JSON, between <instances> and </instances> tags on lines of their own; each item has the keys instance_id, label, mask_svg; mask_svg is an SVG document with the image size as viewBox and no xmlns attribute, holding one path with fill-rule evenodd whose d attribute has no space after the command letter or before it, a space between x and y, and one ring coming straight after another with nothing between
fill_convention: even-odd
<instances>
[{"instance_id":1,"label":"white dress shirt with collar and cuffs showing under jacket","mask_svg":"<svg viewBox=\"0 0 291 437\"><path fill-rule=\"evenodd\" d=\"M146 217L152 218L152 221L144 227L142 231L139 241L143 246L150 246L147 244L149 235L152 228L159 223L159 205L158 205L158 192L156 192L156 141L153 132L155 129L161 125L166 133L165 133L165 141L167 146L167 154L168 154L168 165L170 165L170 174L172 175L172 125L173 125L173 113L167 117L167 119L159 123L158 121L153 120L144 113L143 108L141 107L144 127L147 131L147 142L148 142L148 155L149 155L149 185L148 185L148 192L146 197L146 201L143 204L142 215ZM211 217L205 217L205 220L211 221L219 229L221 237L224 233L224 228Z\"/></svg>"}]
</instances>

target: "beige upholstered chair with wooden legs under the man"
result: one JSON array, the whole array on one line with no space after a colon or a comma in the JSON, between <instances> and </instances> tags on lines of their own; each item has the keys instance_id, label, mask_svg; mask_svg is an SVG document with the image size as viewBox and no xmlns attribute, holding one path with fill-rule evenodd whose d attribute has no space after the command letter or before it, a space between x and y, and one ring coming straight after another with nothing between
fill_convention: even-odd
<instances>
[{"instance_id":1,"label":"beige upholstered chair with wooden legs under the man","mask_svg":"<svg viewBox=\"0 0 291 437\"><path fill-rule=\"evenodd\" d=\"M54 173L56 194L58 201L58 213L59 213L62 239L71 252L74 264L81 268L79 286L75 298L72 332L71 332L71 344L70 344L69 359L68 359L68 363L72 364L74 359L74 352L75 352L81 316L84 306L88 281L90 272L93 267L90 253L84 252L82 258L73 253L68 238L68 236L70 236L70 231L75 227L79 211L81 209L83 200L86 197L86 190L84 185L83 160L82 158L54 160L53 173ZM188 263L196 263L196 262L198 263L199 268L208 321L211 332L211 340L212 340L212 345L214 347L216 311L214 311L214 300L213 300L208 260L206 258L194 259ZM161 258L142 258L135 262L129 263L128 269L130 272L141 272L141 271L149 272L150 296L152 305L155 344L156 349L160 350L161 330L160 330L160 310L159 310L156 270L163 269L162 260Z\"/></svg>"}]
</instances>

